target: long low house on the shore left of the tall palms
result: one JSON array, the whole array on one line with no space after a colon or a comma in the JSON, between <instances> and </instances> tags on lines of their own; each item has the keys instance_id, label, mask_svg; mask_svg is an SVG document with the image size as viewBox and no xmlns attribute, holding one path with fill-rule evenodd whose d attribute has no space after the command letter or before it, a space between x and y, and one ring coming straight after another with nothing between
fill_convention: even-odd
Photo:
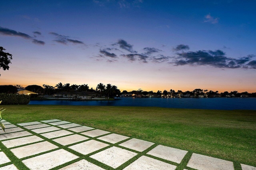
<instances>
[{"instance_id":1,"label":"long low house on the shore left of the tall palms","mask_svg":"<svg viewBox=\"0 0 256 170\"><path fill-rule=\"evenodd\" d=\"M60 93L55 93L54 97L58 99L79 99L79 100L88 100L96 97L98 94L95 92L90 92L90 91L76 91L72 93L67 93L67 92L60 92Z\"/></svg>"}]
</instances>

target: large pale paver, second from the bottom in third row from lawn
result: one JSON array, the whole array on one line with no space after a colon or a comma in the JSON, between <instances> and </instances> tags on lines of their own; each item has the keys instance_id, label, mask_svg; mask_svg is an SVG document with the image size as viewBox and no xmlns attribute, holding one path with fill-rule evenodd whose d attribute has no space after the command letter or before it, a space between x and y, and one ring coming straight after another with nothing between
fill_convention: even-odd
<instances>
[{"instance_id":1,"label":"large pale paver, second from the bottom in third row from lawn","mask_svg":"<svg viewBox=\"0 0 256 170\"><path fill-rule=\"evenodd\" d=\"M76 158L79 157L64 149L60 149L22 160L22 162L30 168L30 170L49 170Z\"/></svg>"}]
</instances>

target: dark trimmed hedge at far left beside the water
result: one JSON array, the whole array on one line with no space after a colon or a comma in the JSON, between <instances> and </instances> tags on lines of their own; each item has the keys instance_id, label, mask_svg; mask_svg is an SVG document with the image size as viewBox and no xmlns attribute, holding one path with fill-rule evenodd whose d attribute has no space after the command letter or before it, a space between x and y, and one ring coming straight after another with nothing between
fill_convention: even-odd
<instances>
[{"instance_id":1,"label":"dark trimmed hedge at far left beside the water","mask_svg":"<svg viewBox=\"0 0 256 170\"><path fill-rule=\"evenodd\" d=\"M0 93L1 100L3 105L26 105L30 102L30 96Z\"/></svg>"}]
</instances>

